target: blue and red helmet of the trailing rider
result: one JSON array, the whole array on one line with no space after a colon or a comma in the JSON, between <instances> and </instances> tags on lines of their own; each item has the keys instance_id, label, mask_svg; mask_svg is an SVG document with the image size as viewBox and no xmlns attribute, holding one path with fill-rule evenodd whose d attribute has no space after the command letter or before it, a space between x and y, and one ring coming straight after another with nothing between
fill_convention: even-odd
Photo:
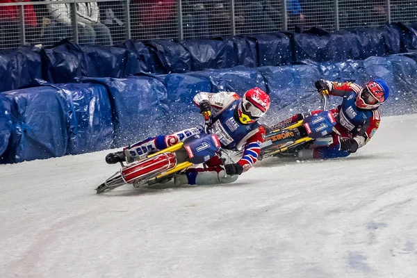
<instances>
[{"instance_id":1,"label":"blue and red helmet of the trailing rider","mask_svg":"<svg viewBox=\"0 0 417 278\"><path fill-rule=\"evenodd\" d=\"M389 88L382 79L368 81L357 95L356 106L361 109L375 109L389 97Z\"/></svg>"}]
</instances>

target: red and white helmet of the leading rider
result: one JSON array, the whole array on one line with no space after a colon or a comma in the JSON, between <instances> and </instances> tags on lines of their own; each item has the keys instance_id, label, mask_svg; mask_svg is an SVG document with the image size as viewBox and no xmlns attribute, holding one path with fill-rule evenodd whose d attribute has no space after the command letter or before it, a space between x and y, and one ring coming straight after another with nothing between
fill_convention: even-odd
<instances>
[{"instance_id":1,"label":"red and white helmet of the leading rider","mask_svg":"<svg viewBox=\"0 0 417 278\"><path fill-rule=\"evenodd\" d=\"M265 115L270 106L270 97L259 88L245 92L238 105L238 117L242 124L252 124Z\"/></svg>"}]
</instances>

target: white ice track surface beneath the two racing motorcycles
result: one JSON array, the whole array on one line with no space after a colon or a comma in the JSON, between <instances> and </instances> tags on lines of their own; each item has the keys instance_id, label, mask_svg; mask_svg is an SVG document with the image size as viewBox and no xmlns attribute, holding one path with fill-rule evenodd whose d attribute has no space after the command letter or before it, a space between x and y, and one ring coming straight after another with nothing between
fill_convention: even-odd
<instances>
[{"instance_id":1,"label":"white ice track surface beneath the two racing motorcycles","mask_svg":"<svg viewBox=\"0 0 417 278\"><path fill-rule=\"evenodd\" d=\"M227 186L95 195L106 152L0 165L0 277L417 277L416 119Z\"/></svg>"}]
</instances>

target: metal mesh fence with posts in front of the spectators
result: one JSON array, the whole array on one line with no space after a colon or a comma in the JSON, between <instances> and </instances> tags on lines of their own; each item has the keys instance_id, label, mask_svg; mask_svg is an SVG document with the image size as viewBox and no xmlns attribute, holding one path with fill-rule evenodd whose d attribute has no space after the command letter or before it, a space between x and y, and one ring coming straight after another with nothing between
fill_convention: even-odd
<instances>
[{"instance_id":1,"label":"metal mesh fence with posts in front of the spectators","mask_svg":"<svg viewBox=\"0 0 417 278\"><path fill-rule=\"evenodd\" d=\"M57 0L0 3L0 49L205 39L417 22L415 0Z\"/></svg>"}]
</instances>

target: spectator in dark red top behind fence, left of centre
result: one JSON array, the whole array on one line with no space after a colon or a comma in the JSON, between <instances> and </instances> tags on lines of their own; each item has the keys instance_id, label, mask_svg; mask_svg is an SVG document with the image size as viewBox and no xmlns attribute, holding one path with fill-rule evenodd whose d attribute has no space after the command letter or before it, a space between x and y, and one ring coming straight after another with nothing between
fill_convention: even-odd
<instances>
[{"instance_id":1,"label":"spectator in dark red top behind fence, left of centre","mask_svg":"<svg viewBox=\"0 0 417 278\"><path fill-rule=\"evenodd\" d=\"M135 39L174 38L176 0L134 0L131 3L132 34Z\"/></svg>"}]
</instances>

